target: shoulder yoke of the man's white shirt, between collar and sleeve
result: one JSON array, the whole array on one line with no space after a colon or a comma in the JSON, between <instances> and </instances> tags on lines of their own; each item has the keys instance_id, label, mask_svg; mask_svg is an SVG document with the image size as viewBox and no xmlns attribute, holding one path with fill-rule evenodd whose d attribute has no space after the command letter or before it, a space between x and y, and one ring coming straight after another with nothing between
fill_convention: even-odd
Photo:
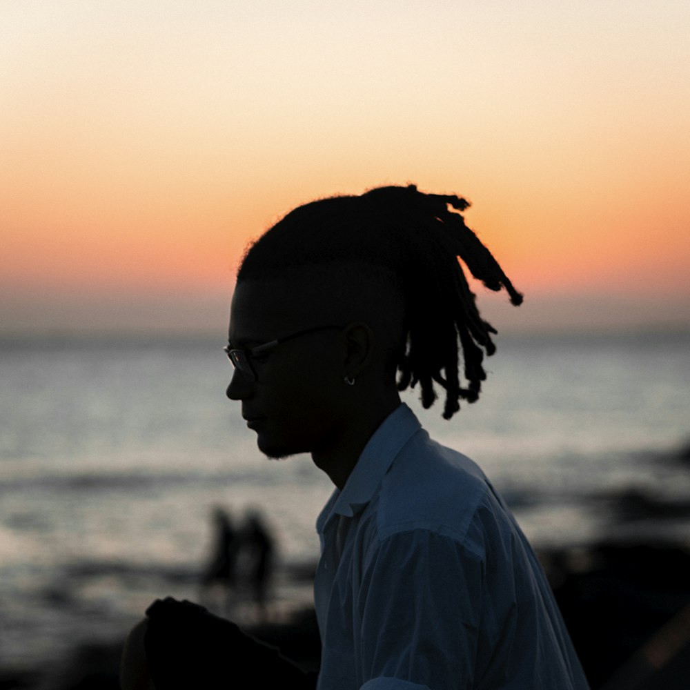
<instances>
[{"instance_id":1,"label":"shoulder yoke of the man's white shirt, between collar and sleeve","mask_svg":"<svg viewBox=\"0 0 690 690\"><path fill-rule=\"evenodd\" d=\"M466 455L416 433L395 457L377 500L380 539L421 529L465 542L493 490Z\"/></svg>"}]
</instances>

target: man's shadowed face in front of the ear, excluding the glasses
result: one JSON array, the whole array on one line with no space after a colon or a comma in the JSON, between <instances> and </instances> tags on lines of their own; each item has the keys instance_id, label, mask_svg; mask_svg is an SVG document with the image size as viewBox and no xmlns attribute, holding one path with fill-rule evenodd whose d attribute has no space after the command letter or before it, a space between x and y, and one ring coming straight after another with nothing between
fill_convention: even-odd
<instances>
[{"instance_id":1,"label":"man's shadowed face in front of the ear, excluding the glasses","mask_svg":"<svg viewBox=\"0 0 690 690\"><path fill-rule=\"evenodd\" d=\"M240 282L230 314L230 346L248 349L324 326L319 312L288 284ZM344 424L342 352L339 331L317 331L253 358L255 381L241 371L233 373L227 395L242 402L242 416L257 433L259 450L284 457L324 452L337 443Z\"/></svg>"}]
</instances>

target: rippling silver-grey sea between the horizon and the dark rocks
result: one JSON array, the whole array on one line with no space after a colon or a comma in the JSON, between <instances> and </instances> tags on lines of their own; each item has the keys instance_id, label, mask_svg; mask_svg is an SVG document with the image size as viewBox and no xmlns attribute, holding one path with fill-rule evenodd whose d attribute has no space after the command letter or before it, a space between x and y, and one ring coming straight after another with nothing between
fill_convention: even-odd
<instances>
[{"instance_id":1,"label":"rippling silver-grey sea between the horizon and the dark rocks","mask_svg":"<svg viewBox=\"0 0 690 690\"><path fill-rule=\"evenodd\" d=\"M620 520L625 493L690 499L690 335L506 335L479 402L433 437L473 457L537 547L684 540L687 519ZM267 460L224 393L217 342L0 342L0 668L123 638L153 599L199 598L210 514L261 511L275 615L308 602L332 486L306 457Z\"/></svg>"}]
</instances>

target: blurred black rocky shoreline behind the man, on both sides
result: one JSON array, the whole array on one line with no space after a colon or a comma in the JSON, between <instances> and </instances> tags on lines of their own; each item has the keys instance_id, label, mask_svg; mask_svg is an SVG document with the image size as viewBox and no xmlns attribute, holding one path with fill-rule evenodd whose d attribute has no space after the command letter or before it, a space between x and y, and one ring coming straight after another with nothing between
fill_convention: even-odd
<instances>
[{"instance_id":1,"label":"blurred black rocky shoreline behind the man, on both sides","mask_svg":"<svg viewBox=\"0 0 690 690\"><path fill-rule=\"evenodd\" d=\"M593 690L690 687L690 539L668 540L669 520L690 517L689 502L668 504L639 491L613 502L607 538L538 555ZM635 528L644 524L644 531ZM653 524L653 538L649 525ZM613 525L616 526L615 524ZM644 533L644 537L642 534ZM309 571L313 572L312 566ZM292 573L299 579L304 573ZM305 670L319 663L311 609L247 628ZM77 647L62 667L1 669L0 690L117 690L122 638Z\"/></svg>"}]
</instances>

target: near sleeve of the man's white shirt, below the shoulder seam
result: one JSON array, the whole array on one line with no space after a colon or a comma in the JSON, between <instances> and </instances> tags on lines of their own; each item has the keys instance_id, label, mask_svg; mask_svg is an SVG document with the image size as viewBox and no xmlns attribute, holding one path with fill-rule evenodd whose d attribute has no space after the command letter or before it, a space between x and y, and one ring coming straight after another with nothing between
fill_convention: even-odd
<instances>
[{"instance_id":1,"label":"near sleeve of the man's white shirt, below the shoulder seam","mask_svg":"<svg viewBox=\"0 0 690 690\"><path fill-rule=\"evenodd\" d=\"M355 602L362 687L473 687L482 582L482 560L445 535L415 529L373 546Z\"/></svg>"}]
</instances>

